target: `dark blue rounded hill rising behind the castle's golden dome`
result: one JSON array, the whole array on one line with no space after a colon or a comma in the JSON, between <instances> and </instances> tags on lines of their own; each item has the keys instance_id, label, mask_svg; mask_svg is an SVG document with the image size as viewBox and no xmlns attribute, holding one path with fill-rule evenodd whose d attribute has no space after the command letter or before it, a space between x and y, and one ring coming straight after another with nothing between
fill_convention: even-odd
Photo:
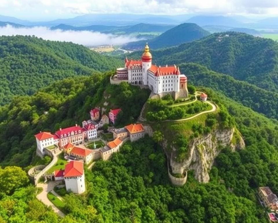
<instances>
[{"instance_id":1,"label":"dark blue rounded hill rising behind the castle's golden dome","mask_svg":"<svg viewBox=\"0 0 278 223\"><path fill-rule=\"evenodd\" d=\"M149 46L153 49L164 48L168 46L177 46L185 42L191 42L201 39L210 33L194 23L183 23L162 33L154 39L147 40ZM140 49L146 40L130 42L124 46L126 49Z\"/></svg>"}]
</instances>

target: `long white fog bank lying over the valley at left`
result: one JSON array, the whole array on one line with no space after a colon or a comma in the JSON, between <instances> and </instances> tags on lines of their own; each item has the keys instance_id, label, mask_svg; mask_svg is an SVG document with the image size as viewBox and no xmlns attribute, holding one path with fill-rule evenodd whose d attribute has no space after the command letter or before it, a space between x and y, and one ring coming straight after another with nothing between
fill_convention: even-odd
<instances>
[{"instance_id":1,"label":"long white fog bank lying over the valley at left","mask_svg":"<svg viewBox=\"0 0 278 223\"><path fill-rule=\"evenodd\" d=\"M4 36L12 35L35 35L47 40L73 42L85 46L100 45L122 45L138 39L130 36L116 36L90 31L62 31L50 30L49 28L38 26L33 28L15 28L13 26L0 27L0 33Z\"/></svg>"}]
</instances>

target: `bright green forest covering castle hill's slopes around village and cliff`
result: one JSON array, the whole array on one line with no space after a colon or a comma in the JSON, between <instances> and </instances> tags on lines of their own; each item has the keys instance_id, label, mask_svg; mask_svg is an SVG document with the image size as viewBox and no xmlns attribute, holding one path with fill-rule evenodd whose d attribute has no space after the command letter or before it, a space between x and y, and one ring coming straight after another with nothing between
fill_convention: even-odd
<instances>
[{"instance_id":1,"label":"bright green forest covering castle hill's slopes around village and cliff","mask_svg":"<svg viewBox=\"0 0 278 223\"><path fill-rule=\"evenodd\" d=\"M186 66L183 69L189 70ZM39 130L53 131L88 118L89 109L98 105L106 89L111 89L110 74L61 80L1 107L1 166L29 165L35 151L33 134ZM127 84L113 87L118 94L111 95L111 101L124 107L126 117L138 117L148 93ZM184 186L171 186L162 148L146 137L126 143L110 161L97 161L92 171L86 170L87 193L65 195L68 216L61 222L131 222L133 213L137 222L144 223L266 223L255 195L257 187L264 185L278 192L278 122L216 91L202 90L210 100L228 109L246 143L244 150L231 152L226 148L220 153L208 184L198 183L189 173ZM13 177L4 177L7 172ZM0 175L0 220L60 221L34 198L36 191L26 187L24 172L3 169ZM10 180L12 190L6 190L6 180Z\"/></svg>"}]
</instances>

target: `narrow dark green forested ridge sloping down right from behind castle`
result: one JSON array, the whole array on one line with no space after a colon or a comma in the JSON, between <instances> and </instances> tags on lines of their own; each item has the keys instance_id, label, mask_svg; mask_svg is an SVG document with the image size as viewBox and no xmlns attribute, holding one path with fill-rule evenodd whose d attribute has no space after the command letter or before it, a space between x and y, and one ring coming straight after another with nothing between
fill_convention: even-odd
<instances>
[{"instance_id":1,"label":"narrow dark green forested ridge sloping down right from behind castle","mask_svg":"<svg viewBox=\"0 0 278 223\"><path fill-rule=\"evenodd\" d=\"M211 71L194 63L180 64L180 69L186 73L190 83L220 91L254 111L278 119L278 93L235 80L229 75Z\"/></svg>"}]
</instances>

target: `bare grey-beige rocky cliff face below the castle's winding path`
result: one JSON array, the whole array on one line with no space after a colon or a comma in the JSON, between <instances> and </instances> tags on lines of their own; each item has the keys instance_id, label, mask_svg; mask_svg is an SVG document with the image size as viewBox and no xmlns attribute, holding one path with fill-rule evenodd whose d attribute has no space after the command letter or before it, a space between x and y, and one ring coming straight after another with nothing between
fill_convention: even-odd
<instances>
[{"instance_id":1,"label":"bare grey-beige rocky cliff face below the castle's winding path","mask_svg":"<svg viewBox=\"0 0 278 223\"><path fill-rule=\"evenodd\" d=\"M166 149L167 142L164 142ZM195 178L199 182L209 181L209 170L215 157L221 149L231 146L233 150L243 149L245 144L240 133L232 129L215 130L214 132L193 139L189 146L188 158L182 162L176 161L175 148L168 153L169 164L173 174L184 174L188 170L194 170Z\"/></svg>"}]
</instances>

